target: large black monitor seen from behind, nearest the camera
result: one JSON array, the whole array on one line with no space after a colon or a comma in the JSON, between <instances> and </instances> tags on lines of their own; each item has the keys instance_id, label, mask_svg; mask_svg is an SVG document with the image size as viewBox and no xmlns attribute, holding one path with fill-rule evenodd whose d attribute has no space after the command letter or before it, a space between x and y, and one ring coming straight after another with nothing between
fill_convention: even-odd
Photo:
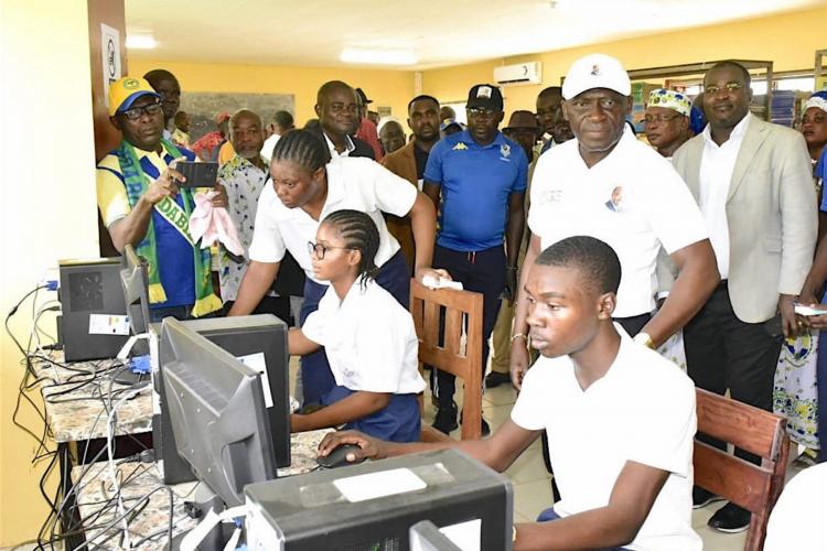
<instances>
[{"instance_id":1,"label":"large black monitor seen from behind, nearest the camera","mask_svg":"<svg viewBox=\"0 0 827 551\"><path fill-rule=\"evenodd\" d=\"M228 507L241 505L247 484L276 478L260 374L172 317L160 361L179 455Z\"/></svg>"}]
</instances>

